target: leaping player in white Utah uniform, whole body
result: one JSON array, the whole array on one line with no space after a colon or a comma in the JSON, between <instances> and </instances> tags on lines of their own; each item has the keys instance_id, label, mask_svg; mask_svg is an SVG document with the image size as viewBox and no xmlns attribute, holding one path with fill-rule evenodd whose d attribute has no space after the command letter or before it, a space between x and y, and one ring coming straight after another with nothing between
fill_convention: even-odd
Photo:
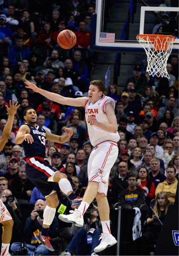
<instances>
[{"instance_id":1,"label":"leaping player in white Utah uniform, whole body","mask_svg":"<svg viewBox=\"0 0 179 256\"><path fill-rule=\"evenodd\" d=\"M117 141L120 140L114 112L115 101L103 94L105 87L100 80L90 82L89 98L66 98L40 89L27 80L25 80L25 84L26 88L30 88L52 101L85 108L89 139L95 147L88 159L88 187L79 208L69 215L60 214L59 219L83 227L83 214L96 197L103 233L100 237L100 245L94 251L99 252L114 245L117 241L110 231L110 209L106 195L110 170L118 156Z\"/></svg>"}]
</instances>

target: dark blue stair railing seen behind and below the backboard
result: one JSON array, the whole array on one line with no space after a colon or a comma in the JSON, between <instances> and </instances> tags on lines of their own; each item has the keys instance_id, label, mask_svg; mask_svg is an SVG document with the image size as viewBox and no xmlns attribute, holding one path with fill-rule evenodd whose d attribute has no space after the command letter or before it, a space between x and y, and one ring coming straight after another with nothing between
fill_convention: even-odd
<instances>
[{"instance_id":1,"label":"dark blue stair railing seen behind and below the backboard","mask_svg":"<svg viewBox=\"0 0 179 256\"><path fill-rule=\"evenodd\" d=\"M136 13L137 0L131 0L128 8L127 20L125 20L120 40L129 40L130 23L134 23L134 14ZM120 75L121 53L116 53L113 83L117 84L117 78Z\"/></svg>"}]
</instances>

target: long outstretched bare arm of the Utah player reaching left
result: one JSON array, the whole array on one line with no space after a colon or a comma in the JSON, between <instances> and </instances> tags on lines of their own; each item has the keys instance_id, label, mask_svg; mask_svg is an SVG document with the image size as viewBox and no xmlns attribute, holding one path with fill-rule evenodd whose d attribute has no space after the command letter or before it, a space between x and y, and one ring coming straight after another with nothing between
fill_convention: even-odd
<instances>
[{"instance_id":1,"label":"long outstretched bare arm of the Utah player reaching left","mask_svg":"<svg viewBox=\"0 0 179 256\"><path fill-rule=\"evenodd\" d=\"M38 92L42 94L44 97L51 99L51 101L55 101L63 105L84 107L86 101L88 100L87 97L73 99L73 98L63 97L57 93L48 92L46 90L38 88L35 84L30 83L28 80L25 80L24 83L26 84L26 88L32 89L34 92Z\"/></svg>"}]
</instances>

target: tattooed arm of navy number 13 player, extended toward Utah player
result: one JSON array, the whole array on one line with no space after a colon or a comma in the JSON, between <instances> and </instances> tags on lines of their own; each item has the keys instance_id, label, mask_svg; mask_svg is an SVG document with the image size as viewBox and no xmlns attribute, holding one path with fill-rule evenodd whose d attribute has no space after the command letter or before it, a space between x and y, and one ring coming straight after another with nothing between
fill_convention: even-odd
<instances>
[{"instance_id":1,"label":"tattooed arm of navy number 13 player, extended toward Utah player","mask_svg":"<svg viewBox=\"0 0 179 256\"><path fill-rule=\"evenodd\" d=\"M66 128L65 133L66 135L58 136L46 130L46 139L57 143L65 143L73 135L73 130L71 128Z\"/></svg>"}]
</instances>

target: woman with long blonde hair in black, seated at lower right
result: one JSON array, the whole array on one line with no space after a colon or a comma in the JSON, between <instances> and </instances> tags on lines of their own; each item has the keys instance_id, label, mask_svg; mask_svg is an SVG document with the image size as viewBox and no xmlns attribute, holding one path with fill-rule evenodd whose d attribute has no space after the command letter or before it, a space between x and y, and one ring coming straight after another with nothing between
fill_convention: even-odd
<instances>
[{"instance_id":1,"label":"woman with long blonde hair in black, seated at lower right","mask_svg":"<svg viewBox=\"0 0 179 256\"><path fill-rule=\"evenodd\" d=\"M159 238L162 225L158 219L164 223L165 216L168 210L168 196L165 192L161 191L156 195L154 211L155 214L149 209L146 214L146 228L142 236L133 242L133 255L150 255L150 246Z\"/></svg>"}]
</instances>

